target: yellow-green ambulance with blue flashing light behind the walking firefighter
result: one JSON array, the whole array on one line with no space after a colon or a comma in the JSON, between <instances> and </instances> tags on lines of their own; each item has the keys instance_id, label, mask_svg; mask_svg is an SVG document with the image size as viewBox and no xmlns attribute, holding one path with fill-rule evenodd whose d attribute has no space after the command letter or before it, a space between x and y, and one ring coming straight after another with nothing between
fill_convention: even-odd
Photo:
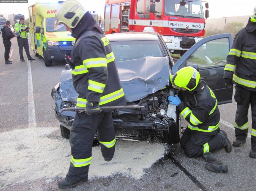
<instances>
[{"instance_id":1,"label":"yellow-green ambulance with blue flashing light behind the walking firefighter","mask_svg":"<svg viewBox=\"0 0 256 191\"><path fill-rule=\"evenodd\" d=\"M36 56L43 57L45 66L64 60L75 45L75 38L65 26L54 30L55 14L62 2L36 2L29 7L31 48Z\"/></svg>"}]
</instances>

